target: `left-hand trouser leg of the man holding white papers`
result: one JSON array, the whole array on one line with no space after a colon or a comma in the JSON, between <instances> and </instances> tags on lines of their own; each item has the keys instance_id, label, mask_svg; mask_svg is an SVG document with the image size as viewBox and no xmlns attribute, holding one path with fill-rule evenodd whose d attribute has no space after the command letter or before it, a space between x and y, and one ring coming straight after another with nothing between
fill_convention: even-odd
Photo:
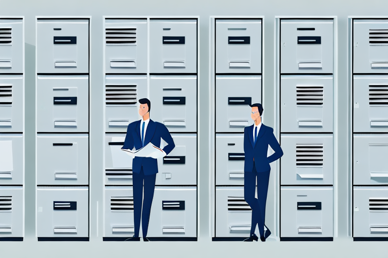
<instances>
[{"instance_id":1,"label":"left-hand trouser leg of the man holding white papers","mask_svg":"<svg viewBox=\"0 0 388 258\"><path fill-rule=\"evenodd\" d=\"M140 218L141 218L141 203L143 200L143 167L140 169L140 173L132 174L133 183L133 222L135 226L135 237L139 237L140 231Z\"/></svg>"}]
</instances>

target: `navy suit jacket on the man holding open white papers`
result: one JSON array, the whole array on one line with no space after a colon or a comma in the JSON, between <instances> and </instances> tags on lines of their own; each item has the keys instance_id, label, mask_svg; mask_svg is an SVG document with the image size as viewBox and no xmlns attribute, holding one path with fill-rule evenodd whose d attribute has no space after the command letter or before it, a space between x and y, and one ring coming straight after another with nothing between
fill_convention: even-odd
<instances>
[{"instance_id":1,"label":"navy suit jacket on the man holding open white papers","mask_svg":"<svg viewBox=\"0 0 388 258\"><path fill-rule=\"evenodd\" d=\"M142 147L140 122L141 120L138 120L128 124L127 135L125 136L124 146L122 149L132 150L133 147L135 147L136 150L138 150ZM160 122L154 122L150 119L150 122L147 125L146 136L144 136L144 146L151 142L156 147L159 147L161 138L168 144L163 148L163 151L168 155L172 149L175 148L174 140L172 140L166 125ZM135 157L132 161L132 172L140 173L141 166L143 166L144 175L153 175L158 173L157 159Z\"/></svg>"}]
</instances>

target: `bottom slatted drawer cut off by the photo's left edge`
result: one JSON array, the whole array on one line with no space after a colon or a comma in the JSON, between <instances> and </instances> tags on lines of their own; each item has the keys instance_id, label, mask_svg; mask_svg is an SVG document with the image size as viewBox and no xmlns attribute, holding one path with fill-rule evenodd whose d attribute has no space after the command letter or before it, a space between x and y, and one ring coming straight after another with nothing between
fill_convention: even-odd
<instances>
[{"instance_id":1,"label":"bottom slatted drawer cut off by the photo's left edge","mask_svg":"<svg viewBox=\"0 0 388 258\"><path fill-rule=\"evenodd\" d=\"M0 240L23 237L23 187L0 186Z\"/></svg>"}]
</instances>

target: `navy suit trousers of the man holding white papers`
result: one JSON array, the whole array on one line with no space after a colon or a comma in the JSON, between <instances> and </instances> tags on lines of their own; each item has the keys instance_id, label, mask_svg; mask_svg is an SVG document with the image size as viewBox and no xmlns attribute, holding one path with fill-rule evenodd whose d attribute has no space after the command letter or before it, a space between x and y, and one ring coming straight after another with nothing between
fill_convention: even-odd
<instances>
[{"instance_id":1,"label":"navy suit trousers of the man holding white papers","mask_svg":"<svg viewBox=\"0 0 388 258\"><path fill-rule=\"evenodd\" d=\"M142 225L143 237L147 236L148 223L150 221L151 205L154 199L156 174L144 175L141 166L140 173L132 174L133 182L133 220L135 226L135 237L139 236L140 218ZM143 199L143 182L144 182L144 199ZM142 209L141 209L142 203ZM142 211L141 211L142 210ZM142 215L142 216L141 216Z\"/></svg>"}]
</instances>

